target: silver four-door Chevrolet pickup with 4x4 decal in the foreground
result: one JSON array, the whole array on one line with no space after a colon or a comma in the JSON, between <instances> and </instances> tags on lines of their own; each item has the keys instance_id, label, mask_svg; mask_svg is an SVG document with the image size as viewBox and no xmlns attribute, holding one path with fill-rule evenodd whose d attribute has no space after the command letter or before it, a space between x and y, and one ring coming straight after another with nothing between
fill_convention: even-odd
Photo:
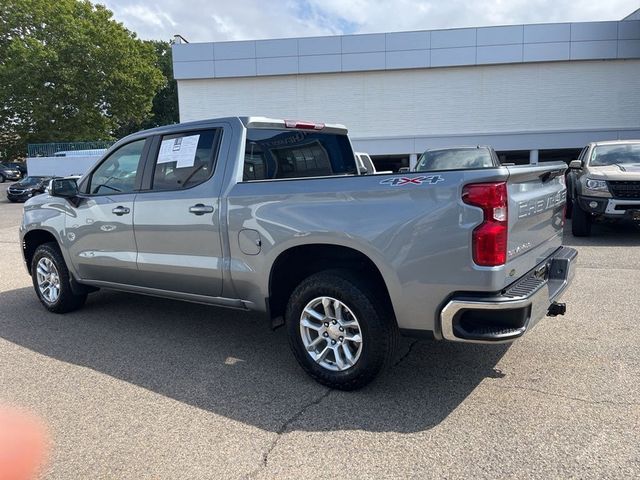
<instances>
[{"instance_id":1,"label":"silver four-door Chevrolet pickup with 4x4 decal in the foreground","mask_svg":"<svg viewBox=\"0 0 640 480\"><path fill-rule=\"evenodd\" d=\"M51 312L98 288L264 312L307 373L355 389L400 334L508 342L564 313L565 170L358 175L340 125L207 120L136 133L53 180L20 236Z\"/></svg>"}]
</instances>

